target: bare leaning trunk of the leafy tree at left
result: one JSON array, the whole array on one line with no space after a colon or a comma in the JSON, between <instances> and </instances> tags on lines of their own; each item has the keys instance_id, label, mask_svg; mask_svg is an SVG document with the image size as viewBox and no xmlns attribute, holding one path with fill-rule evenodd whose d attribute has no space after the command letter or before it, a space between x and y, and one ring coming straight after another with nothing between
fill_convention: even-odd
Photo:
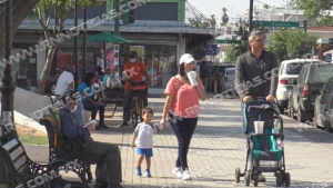
<instances>
[{"instance_id":1,"label":"bare leaning trunk of the leafy tree at left","mask_svg":"<svg viewBox=\"0 0 333 188\"><path fill-rule=\"evenodd\" d=\"M42 71L41 76L40 76L40 82L38 83L37 92L39 95L44 93L46 82L47 82L47 79L50 75L51 65L52 65L52 61L53 61L53 56L54 56L57 47L58 46L54 43L53 46L51 46L51 48L49 48L48 57L47 57L47 63L46 63L44 69Z\"/></svg>"}]
</instances>

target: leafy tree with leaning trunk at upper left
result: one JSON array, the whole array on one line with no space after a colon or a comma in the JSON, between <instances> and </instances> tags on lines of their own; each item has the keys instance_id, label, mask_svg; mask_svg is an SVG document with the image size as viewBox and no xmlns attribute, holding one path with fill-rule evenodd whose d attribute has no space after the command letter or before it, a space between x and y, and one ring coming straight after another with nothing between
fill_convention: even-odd
<instances>
[{"instance_id":1,"label":"leafy tree with leaning trunk at upper left","mask_svg":"<svg viewBox=\"0 0 333 188\"><path fill-rule=\"evenodd\" d=\"M99 0L79 0L79 7L90 7L90 6L100 6ZM42 10L47 10L48 16L43 14ZM38 19L43 32L44 38L50 41L51 47L48 48L47 62L43 68L43 71L40 76L40 82L38 85L38 93L44 92L46 81L50 75L51 63L56 49L58 47L57 42L51 41L51 38L57 38L58 34L63 31L63 23L67 20L68 16L74 11L74 0L40 0L36 7L32 9L29 18ZM50 31L50 20L54 19L54 26L52 31Z\"/></svg>"}]
</instances>

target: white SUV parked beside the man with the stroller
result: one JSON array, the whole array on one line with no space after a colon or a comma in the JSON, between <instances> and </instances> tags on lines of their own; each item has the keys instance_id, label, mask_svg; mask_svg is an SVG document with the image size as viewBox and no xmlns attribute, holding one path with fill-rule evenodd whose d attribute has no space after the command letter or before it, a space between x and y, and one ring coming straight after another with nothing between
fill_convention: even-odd
<instances>
[{"instance_id":1,"label":"white SUV parked beside the man with the stroller","mask_svg":"<svg viewBox=\"0 0 333 188\"><path fill-rule=\"evenodd\" d=\"M276 89L276 103L281 112L287 108L287 97L297 82L300 71L304 65L320 60L291 59L281 62L279 71L279 83Z\"/></svg>"}]
</instances>

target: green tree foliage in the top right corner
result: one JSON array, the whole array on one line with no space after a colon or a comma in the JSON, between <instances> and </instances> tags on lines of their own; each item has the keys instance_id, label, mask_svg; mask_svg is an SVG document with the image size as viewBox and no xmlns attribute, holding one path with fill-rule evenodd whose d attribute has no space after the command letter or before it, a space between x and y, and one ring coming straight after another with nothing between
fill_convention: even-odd
<instances>
[{"instance_id":1,"label":"green tree foliage in the top right corner","mask_svg":"<svg viewBox=\"0 0 333 188\"><path fill-rule=\"evenodd\" d=\"M307 20L315 20L317 26L333 26L332 0L296 0Z\"/></svg>"}]
</instances>

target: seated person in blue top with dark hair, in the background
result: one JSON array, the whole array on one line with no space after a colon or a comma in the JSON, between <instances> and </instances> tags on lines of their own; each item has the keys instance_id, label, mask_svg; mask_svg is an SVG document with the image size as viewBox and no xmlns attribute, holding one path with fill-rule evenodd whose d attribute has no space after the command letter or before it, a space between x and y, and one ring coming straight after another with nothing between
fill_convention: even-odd
<instances>
[{"instance_id":1,"label":"seated person in blue top with dark hair, in the background","mask_svg":"<svg viewBox=\"0 0 333 188\"><path fill-rule=\"evenodd\" d=\"M95 120L95 116L98 110L100 111L100 122L97 126L97 130L99 129L108 129L104 125L104 105L101 103L100 95L93 92L91 87L95 82L95 75L93 72L88 72L84 77L84 80L79 86L78 91L82 97L83 109L91 111L91 120Z\"/></svg>"}]
</instances>

